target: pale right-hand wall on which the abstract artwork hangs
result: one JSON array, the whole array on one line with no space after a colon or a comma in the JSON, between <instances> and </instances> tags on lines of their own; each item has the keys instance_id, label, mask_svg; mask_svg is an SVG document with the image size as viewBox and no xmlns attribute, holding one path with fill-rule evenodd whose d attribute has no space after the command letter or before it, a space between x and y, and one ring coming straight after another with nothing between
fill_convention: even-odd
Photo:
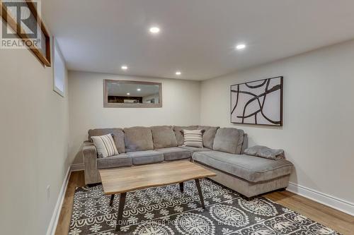
<instances>
[{"instance_id":1,"label":"pale right-hand wall on which the abstract artwork hangs","mask_svg":"<svg viewBox=\"0 0 354 235\"><path fill-rule=\"evenodd\" d=\"M242 128L249 145L283 148L290 181L354 203L354 41L202 82L201 123ZM284 126L230 123L230 85L284 76Z\"/></svg>"}]
</instances>

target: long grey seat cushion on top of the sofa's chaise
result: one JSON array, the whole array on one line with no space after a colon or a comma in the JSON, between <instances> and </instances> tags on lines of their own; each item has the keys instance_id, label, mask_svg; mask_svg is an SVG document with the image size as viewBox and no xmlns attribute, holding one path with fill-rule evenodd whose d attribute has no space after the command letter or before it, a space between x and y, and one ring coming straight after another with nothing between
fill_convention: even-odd
<instances>
[{"instance_id":1,"label":"long grey seat cushion on top of the sofa's chaise","mask_svg":"<svg viewBox=\"0 0 354 235\"><path fill-rule=\"evenodd\" d=\"M285 159L275 161L218 151L195 152L193 159L253 183L286 176L292 171L292 163Z\"/></svg>"}]
</instances>

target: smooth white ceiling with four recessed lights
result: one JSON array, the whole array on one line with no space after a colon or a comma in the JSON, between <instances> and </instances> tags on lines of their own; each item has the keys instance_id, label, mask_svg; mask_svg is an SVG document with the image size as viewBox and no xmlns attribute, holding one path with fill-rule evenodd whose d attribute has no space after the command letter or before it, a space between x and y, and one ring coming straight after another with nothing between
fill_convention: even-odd
<instances>
[{"instance_id":1,"label":"smooth white ceiling with four recessed lights","mask_svg":"<svg viewBox=\"0 0 354 235\"><path fill-rule=\"evenodd\" d=\"M42 15L69 69L132 76L205 80L354 38L353 0L42 0Z\"/></svg>"}]
</instances>

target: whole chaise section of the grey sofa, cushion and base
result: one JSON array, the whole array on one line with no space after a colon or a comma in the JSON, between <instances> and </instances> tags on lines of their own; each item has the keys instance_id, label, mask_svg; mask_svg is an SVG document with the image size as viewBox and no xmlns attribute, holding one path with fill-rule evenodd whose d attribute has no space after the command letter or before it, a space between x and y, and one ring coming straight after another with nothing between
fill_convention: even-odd
<instances>
[{"instance_id":1,"label":"whole chaise section of the grey sofa, cushion and base","mask_svg":"<svg viewBox=\"0 0 354 235\"><path fill-rule=\"evenodd\" d=\"M292 172L292 163L227 152L195 152L193 161L214 171L214 181L247 198L286 188Z\"/></svg>"}]
</instances>

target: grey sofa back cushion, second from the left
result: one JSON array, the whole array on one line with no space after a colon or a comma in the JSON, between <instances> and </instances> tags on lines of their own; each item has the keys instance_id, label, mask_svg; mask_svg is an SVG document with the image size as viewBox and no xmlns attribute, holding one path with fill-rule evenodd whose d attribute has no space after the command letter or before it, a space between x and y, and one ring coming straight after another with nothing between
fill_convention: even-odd
<instances>
[{"instance_id":1,"label":"grey sofa back cushion, second from the left","mask_svg":"<svg viewBox=\"0 0 354 235\"><path fill-rule=\"evenodd\" d=\"M127 152L154 150L150 128L124 128L125 149Z\"/></svg>"}]
</instances>

